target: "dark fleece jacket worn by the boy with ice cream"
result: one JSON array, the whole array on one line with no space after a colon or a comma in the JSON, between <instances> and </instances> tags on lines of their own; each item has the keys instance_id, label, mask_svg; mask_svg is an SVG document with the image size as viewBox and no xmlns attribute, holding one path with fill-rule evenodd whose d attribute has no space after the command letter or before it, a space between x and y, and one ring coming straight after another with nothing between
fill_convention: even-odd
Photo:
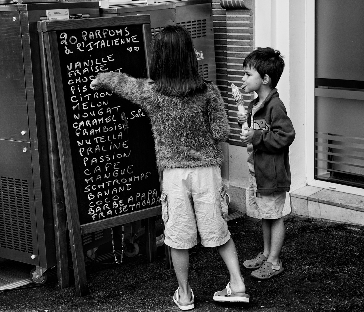
<instances>
[{"instance_id":1,"label":"dark fleece jacket worn by the boy with ice cream","mask_svg":"<svg viewBox=\"0 0 364 312\"><path fill-rule=\"evenodd\" d=\"M253 105L258 100L254 99L248 106L248 127ZM254 130L252 141L257 192L288 192L291 185L288 152L296 133L276 88L254 113L254 124L260 126Z\"/></svg>"}]
</instances>

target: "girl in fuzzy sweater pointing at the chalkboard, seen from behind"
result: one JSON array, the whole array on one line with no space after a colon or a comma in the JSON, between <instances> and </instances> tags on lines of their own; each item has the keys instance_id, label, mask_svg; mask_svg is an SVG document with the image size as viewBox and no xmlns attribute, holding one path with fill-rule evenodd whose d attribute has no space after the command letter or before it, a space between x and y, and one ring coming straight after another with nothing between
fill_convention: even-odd
<instances>
[{"instance_id":1,"label":"girl in fuzzy sweater pointing at the chalkboard, seen from behind","mask_svg":"<svg viewBox=\"0 0 364 312\"><path fill-rule=\"evenodd\" d=\"M110 89L134 102L150 117L158 168L163 172L162 219L165 244L171 247L179 287L173 300L182 310L194 308L188 281L189 248L217 247L230 282L215 301L249 302L235 244L227 227L226 191L219 165L220 141L229 127L217 87L198 74L191 35L167 26L151 44L150 79L102 73L91 89Z\"/></svg>"}]
</instances>

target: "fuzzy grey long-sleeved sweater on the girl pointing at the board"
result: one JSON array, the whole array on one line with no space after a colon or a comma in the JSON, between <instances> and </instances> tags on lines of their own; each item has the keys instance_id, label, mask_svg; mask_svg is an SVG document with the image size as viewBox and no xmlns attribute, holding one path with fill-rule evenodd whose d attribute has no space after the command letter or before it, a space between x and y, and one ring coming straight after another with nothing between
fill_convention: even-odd
<instances>
[{"instance_id":1,"label":"fuzzy grey long-sleeved sweater on the girl pointing at the board","mask_svg":"<svg viewBox=\"0 0 364 312\"><path fill-rule=\"evenodd\" d=\"M229 135L220 91L213 83L204 92L169 96L153 89L152 80L123 73L101 73L99 85L140 106L151 120L159 169L221 165L219 142Z\"/></svg>"}]
</instances>

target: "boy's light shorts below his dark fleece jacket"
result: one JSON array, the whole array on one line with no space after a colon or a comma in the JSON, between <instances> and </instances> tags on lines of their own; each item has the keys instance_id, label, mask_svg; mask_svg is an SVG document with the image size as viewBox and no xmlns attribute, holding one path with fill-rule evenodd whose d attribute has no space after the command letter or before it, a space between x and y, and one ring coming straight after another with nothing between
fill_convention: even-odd
<instances>
[{"instance_id":1,"label":"boy's light shorts below his dark fleece jacket","mask_svg":"<svg viewBox=\"0 0 364 312\"><path fill-rule=\"evenodd\" d=\"M249 207L256 204L258 216L262 219L279 219L283 216L286 192L258 193L256 197L257 181L249 173Z\"/></svg>"}]
</instances>

